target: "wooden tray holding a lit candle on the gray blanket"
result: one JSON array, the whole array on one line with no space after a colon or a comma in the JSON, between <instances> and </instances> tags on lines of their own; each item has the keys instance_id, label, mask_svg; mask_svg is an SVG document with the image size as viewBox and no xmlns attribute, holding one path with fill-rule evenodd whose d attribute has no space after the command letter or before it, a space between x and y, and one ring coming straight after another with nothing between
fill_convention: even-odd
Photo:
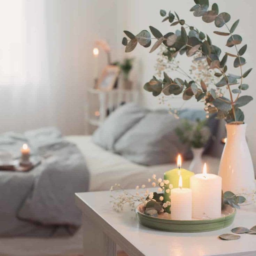
<instances>
[{"instance_id":1,"label":"wooden tray holding a lit candle on the gray blanket","mask_svg":"<svg viewBox=\"0 0 256 256\"><path fill-rule=\"evenodd\" d=\"M39 157L31 157L30 162L30 165L20 165L20 160L15 159L8 165L0 164L0 171L28 172L39 165L41 163L41 159Z\"/></svg>"}]
</instances>

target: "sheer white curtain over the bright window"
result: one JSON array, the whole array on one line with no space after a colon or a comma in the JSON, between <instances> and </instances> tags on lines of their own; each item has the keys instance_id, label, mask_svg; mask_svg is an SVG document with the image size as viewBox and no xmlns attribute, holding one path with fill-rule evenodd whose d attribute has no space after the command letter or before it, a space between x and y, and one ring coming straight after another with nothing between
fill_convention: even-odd
<instances>
[{"instance_id":1,"label":"sheer white curtain over the bright window","mask_svg":"<svg viewBox=\"0 0 256 256\"><path fill-rule=\"evenodd\" d=\"M68 45L72 39L62 29L79 2L70 9L61 0L1 1L0 132L51 125L64 134L84 133L82 79L71 75L81 65L67 60L78 56L77 45Z\"/></svg>"}]
</instances>

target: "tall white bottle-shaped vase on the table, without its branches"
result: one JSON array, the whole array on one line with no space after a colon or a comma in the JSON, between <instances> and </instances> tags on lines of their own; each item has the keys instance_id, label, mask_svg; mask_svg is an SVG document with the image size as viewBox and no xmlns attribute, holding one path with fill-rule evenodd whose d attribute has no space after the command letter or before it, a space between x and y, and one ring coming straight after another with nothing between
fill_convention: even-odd
<instances>
[{"instance_id":1,"label":"tall white bottle-shaped vase on the table, without its branches","mask_svg":"<svg viewBox=\"0 0 256 256\"><path fill-rule=\"evenodd\" d=\"M253 161L245 137L246 124L226 124L226 130L227 141L219 165L223 192L251 194L255 191L255 182Z\"/></svg>"}]
</instances>

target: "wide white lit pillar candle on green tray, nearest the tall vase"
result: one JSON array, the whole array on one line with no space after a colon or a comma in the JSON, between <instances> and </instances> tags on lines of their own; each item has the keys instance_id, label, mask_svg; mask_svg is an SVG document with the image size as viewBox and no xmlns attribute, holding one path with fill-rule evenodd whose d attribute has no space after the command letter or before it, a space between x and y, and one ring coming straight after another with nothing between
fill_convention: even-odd
<instances>
[{"instance_id":1,"label":"wide white lit pillar candle on green tray, nearest the tall vase","mask_svg":"<svg viewBox=\"0 0 256 256\"><path fill-rule=\"evenodd\" d=\"M222 178L207 173L204 163L203 173L190 177L192 190L192 217L213 219L221 217Z\"/></svg>"}]
</instances>

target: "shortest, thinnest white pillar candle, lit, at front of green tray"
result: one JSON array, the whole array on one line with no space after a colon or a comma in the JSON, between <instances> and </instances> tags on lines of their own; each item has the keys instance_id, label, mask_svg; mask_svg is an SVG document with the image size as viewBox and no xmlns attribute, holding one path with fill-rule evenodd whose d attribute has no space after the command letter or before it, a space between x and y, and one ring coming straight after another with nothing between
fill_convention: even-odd
<instances>
[{"instance_id":1,"label":"shortest, thinnest white pillar candle, lit, at front of green tray","mask_svg":"<svg viewBox=\"0 0 256 256\"><path fill-rule=\"evenodd\" d=\"M190 188L182 187L182 176L179 177L179 187L171 190L171 218L176 220L191 220L192 192Z\"/></svg>"}]
</instances>

